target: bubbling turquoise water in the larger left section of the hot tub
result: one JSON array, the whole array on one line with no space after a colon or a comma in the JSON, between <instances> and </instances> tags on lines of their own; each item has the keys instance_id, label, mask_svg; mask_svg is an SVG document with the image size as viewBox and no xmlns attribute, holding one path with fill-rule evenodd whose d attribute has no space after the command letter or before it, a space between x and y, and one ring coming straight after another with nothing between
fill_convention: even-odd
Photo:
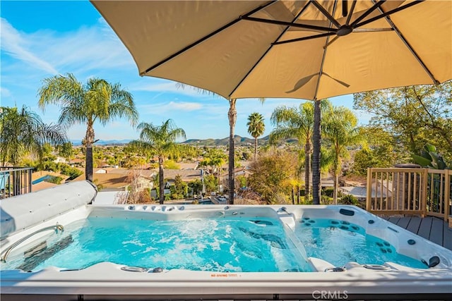
<instances>
[{"instance_id":1,"label":"bubbling turquoise water in the larger left section of the hot tub","mask_svg":"<svg viewBox=\"0 0 452 301\"><path fill-rule=\"evenodd\" d=\"M113 262L146 269L312 271L307 257L287 237L278 219L154 221L90 217L67 225L63 233L53 234L47 243L52 245L68 235L73 242L44 262L37 264L32 257L24 262L22 256L11 256L3 268L83 269Z\"/></svg>"}]
</instances>

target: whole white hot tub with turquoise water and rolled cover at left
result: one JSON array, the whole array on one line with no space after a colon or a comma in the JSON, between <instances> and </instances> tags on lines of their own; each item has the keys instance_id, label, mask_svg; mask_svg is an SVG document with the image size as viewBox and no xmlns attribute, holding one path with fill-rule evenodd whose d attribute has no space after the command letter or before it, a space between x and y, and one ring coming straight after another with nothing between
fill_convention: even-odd
<instances>
[{"instance_id":1,"label":"whole white hot tub with turquoise water and rolled cover at left","mask_svg":"<svg viewBox=\"0 0 452 301\"><path fill-rule=\"evenodd\" d=\"M450 250L357 207L96 206L81 183L1 201L2 300L452 294Z\"/></svg>"}]
</instances>

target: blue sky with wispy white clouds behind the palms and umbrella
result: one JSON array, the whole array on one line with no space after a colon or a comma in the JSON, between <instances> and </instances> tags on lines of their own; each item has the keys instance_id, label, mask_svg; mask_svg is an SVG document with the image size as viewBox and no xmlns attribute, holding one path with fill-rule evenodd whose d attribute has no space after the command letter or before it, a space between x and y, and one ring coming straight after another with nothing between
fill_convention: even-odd
<instances>
[{"instance_id":1,"label":"blue sky with wispy white clouds behind the palms and umbrella","mask_svg":"<svg viewBox=\"0 0 452 301\"><path fill-rule=\"evenodd\" d=\"M56 123L57 106L45 112L37 107L37 91L44 78L73 73L79 81L103 78L119 82L133 94L140 122L161 124L172 118L186 131L187 139L224 138L229 135L229 103L220 97L200 94L189 87L178 89L170 80L138 75L136 65L121 43L89 1L0 1L1 73L0 106L30 106L45 123ZM333 104L352 108L352 95L330 99ZM250 137L246 118L258 111L263 114L268 135L273 128L270 116L280 105L298 106L304 100L237 100L237 135ZM367 123L366 113L355 112L360 123ZM138 131L124 120L105 127L95 125L96 139L138 138ZM85 125L73 126L68 135L81 140Z\"/></svg>"}]
</instances>

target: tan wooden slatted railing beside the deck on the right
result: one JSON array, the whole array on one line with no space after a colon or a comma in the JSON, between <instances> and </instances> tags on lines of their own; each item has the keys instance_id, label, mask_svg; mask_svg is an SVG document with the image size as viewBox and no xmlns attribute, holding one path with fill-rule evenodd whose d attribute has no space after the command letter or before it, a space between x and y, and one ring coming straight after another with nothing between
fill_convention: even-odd
<instances>
[{"instance_id":1,"label":"tan wooden slatted railing beside the deck on the right","mask_svg":"<svg viewBox=\"0 0 452 301\"><path fill-rule=\"evenodd\" d=\"M366 209L374 214L452 215L452 170L368 168Z\"/></svg>"}]
</instances>

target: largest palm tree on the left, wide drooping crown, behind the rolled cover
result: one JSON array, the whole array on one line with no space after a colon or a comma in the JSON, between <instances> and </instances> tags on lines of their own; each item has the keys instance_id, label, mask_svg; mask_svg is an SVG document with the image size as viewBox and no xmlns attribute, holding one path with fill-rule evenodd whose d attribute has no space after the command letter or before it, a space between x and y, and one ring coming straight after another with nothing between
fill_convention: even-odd
<instances>
[{"instance_id":1,"label":"largest palm tree on the left, wide drooping crown, behind the rolled cover","mask_svg":"<svg viewBox=\"0 0 452 301\"><path fill-rule=\"evenodd\" d=\"M119 83L110 84L106 80L90 78L85 85L69 73L44 79L40 91L39 106L44 110L47 104L59 104L59 123L69 128L71 125L86 123L83 139L86 147L86 179L93 181L93 144L95 143L94 123L106 125L114 118L127 118L135 125L138 121L133 97L121 90Z\"/></svg>"}]
</instances>

